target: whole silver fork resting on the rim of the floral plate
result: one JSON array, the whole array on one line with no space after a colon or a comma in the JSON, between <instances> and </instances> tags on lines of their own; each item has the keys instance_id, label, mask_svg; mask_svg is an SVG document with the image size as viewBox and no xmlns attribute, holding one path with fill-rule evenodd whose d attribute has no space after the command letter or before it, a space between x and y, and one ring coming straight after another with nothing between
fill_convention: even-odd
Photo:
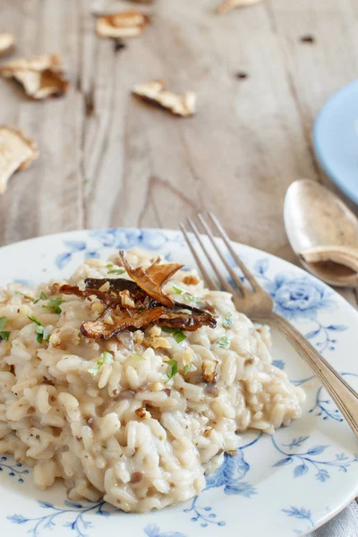
<instances>
[{"instance_id":1,"label":"whole silver fork resting on the rim of the floral plate","mask_svg":"<svg viewBox=\"0 0 358 537\"><path fill-rule=\"evenodd\" d=\"M203 242L199 229L192 221L192 218L187 219L189 229L195 235L198 243L200 244L202 252L205 254L207 260L209 260L209 264L217 275L217 279L221 286L224 287L228 293L233 294L236 309L238 311L242 311L252 321L263 322L271 326L276 326L286 336L286 338L294 346L297 353L300 354L303 360L308 362L308 364L311 366L311 369L315 372L318 379L320 379L320 382L326 388L329 396L332 397L333 401L344 415L346 422L348 422L349 426L354 431L356 438L358 439L358 394L354 388L345 382L345 379L343 379L337 373L337 371L327 362L327 360L325 360L325 358L323 358L323 356L316 351L316 349L303 337L298 330L296 330L296 328L294 328L289 322L287 322L286 319L274 311L275 304L272 298L260 286L256 278L252 276L251 271L243 264L243 261L234 251L232 243L230 242L230 239L227 236L223 226L221 226L217 220L217 217L212 212L209 212L208 216L210 224L214 227L218 236L226 244L227 250L232 255L237 267L243 272L243 276L246 278L249 286L243 285L243 281L237 275L234 268L232 268L226 260L225 251L222 245L217 243L217 240L214 237L207 220L202 215L198 215L199 223L202 226L205 234L208 235L214 250L217 252L218 257L226 267L228 274L230 277L232 277L235 287L229 284L226 276L223 274L220 268L217 267L216 260ZM194 242L191 234L188 234L183 224L181 224L180 227L207 285L211 289L219 289L220 286L218 286L217 282L209 276L204 263L201 261L197 245Z\"/></svg>"}]
</instances>

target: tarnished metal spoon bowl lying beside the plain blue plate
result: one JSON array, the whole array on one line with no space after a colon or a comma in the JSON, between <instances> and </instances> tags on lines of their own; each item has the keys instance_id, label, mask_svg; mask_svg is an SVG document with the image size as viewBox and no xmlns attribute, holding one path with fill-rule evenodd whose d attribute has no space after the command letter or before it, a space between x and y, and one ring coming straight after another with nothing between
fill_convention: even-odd
<instances>
[{"instance_id":1,"label":"tarnished metal spoon bowl lying beside the plain blue plate","mask_svg":"<svg viewBox=\"0 0 358 537\"><path fill-rule=\"evenodd\" d=\"M358 219L327 188L309 179L291 184L284 218L303 267L331 286L358 284Z\"/></svg>"}]
</instances>

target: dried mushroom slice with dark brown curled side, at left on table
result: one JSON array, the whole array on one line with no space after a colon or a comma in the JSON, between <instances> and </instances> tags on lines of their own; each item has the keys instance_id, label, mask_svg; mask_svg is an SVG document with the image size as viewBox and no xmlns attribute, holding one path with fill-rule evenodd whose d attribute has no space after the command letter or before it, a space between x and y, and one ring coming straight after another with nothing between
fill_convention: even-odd
<instances>
[{"instance_id":1,"label":"dried mushroom slice with dark brown curled side, at left on table","mask_svg":"<svg viewBox=\"0 0 358 537\"><path fill-rule=\"evenodd\" d=\"M0 74L20 82L27 95L37 100L61 97L69 88L61 70L61 56L57 54L7 62L0 66Z\"/></svg>"}]
</instances>

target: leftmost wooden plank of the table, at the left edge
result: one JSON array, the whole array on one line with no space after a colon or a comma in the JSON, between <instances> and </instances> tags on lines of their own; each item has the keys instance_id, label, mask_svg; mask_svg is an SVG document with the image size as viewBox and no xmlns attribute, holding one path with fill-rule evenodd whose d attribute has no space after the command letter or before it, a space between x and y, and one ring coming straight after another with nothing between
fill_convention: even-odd
<instances>
[{"instance_id":1,"label":"leftmost wooden plank of the table, at the left edge","mask_svg":"<svg viewBox=\"0 0 358 537\"><path fill-rule=\"evenodd\" d=\"M76 65L76 3L5 4L11 5L4 10L4 19L2 13L2 28L15 34L19 57L58 51L65 65ZM65 98L46 102L28 100L12 81L0 81L0 91L2 123L18 126L41 151L28 171L13 176L0 199L2 243L81 227L81 104L75 85Z\"/></svg>"}]
</instances>

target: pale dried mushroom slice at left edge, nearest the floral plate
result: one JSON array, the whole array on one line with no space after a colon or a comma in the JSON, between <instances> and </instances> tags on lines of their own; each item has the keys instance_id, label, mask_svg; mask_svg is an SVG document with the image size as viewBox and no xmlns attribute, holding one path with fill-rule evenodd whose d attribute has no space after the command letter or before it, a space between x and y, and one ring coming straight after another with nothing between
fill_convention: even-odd
<instances>
[{"instance_id":1,"label":"pale dried mushroom slice at left edge, nearest the floral plate","mask_svg":"<svg viewBox=\"0 0 358 537\"><path fill-rule=\"evenodd\" d=\"M36 142L6 126L0 126L0 194L4 194L10 177L24 170L38 158Z\"/></svg>"}]
</instances>

